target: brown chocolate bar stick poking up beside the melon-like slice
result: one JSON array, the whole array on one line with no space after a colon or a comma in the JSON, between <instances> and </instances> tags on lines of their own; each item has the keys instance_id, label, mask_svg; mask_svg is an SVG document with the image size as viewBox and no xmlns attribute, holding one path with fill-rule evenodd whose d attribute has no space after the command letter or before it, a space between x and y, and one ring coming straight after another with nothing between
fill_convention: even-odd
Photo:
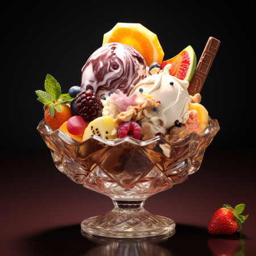
<instances>
[{"instance_id":1,"label":"brown chocolate bar stick poking up beside the melon-like slice","mask_svg":"<svg viewBox=\"0 0 256 256\"><path fill-rule=\"evenodd\" d=\"M219 47L220 41L211 36L196 66L195 73L189 82L189 95L194 96L196 93L200 93Z\"/></svg>"}]
</instances>

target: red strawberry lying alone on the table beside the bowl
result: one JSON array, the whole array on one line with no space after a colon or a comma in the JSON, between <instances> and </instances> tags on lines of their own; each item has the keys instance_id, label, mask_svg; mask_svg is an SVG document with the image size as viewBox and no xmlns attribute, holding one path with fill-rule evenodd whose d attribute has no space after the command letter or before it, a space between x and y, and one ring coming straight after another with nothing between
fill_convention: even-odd
<instances>
[{"instance_id":1,"label":"red strawberry lying alone on the table beside the bowl","mask_svg":"<svg viewBox=\"0 0 256 256\"><path fill-rule=\"evenodd\" d=\"M228 204L214 212L208 224L208 233L214 235L230 235L237 231L238 226L242 230L242 223L248 215L240 215L245 208L245 204L238 204L234 209Z\"/></svg>"}]
</instances>

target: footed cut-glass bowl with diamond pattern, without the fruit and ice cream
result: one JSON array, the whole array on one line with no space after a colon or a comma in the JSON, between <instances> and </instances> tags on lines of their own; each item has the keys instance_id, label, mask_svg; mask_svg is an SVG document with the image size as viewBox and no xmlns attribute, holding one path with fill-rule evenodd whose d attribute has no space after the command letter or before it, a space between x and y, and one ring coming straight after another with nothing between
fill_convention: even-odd
<instances>
[{"instance_id":1,"label":"footed cut-glass bowl with diamond pattern, without the fruit and ice cream","mask_svg":"<svg viewBox=\"0 0 256 256\"><path fill-rule=\"evenodd\" d=\"M219 129L217 120L209 118L200 135L191 133L176 142L159 136L149 141L93 136L77 142L63 131L52 131L44 119L38 125L57 169L113 200L113 210L81 223L82 233L127 238L159 236L175 229L170 218L147 212L144 201L196 172Z\"/></svg>"}]
</instances>

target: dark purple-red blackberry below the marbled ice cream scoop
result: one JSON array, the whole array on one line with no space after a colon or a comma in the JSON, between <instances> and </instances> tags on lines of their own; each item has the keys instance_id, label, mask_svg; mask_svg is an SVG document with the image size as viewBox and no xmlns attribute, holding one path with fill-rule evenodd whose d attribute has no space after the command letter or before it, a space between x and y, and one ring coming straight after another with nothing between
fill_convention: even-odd
<instances>
[{"instance_id":1,"label":"dark purple-red blackberry below the marbled ice cream scoop","mask_svg":"<svg viewBox=\"0 0 256 256\"><path fill-rule=\"evenodd\" d=\"M76 109L85 122L90 122L101 116L103 105L98 94L89 89L77 94Z\"/></svg>"}]
</instances>

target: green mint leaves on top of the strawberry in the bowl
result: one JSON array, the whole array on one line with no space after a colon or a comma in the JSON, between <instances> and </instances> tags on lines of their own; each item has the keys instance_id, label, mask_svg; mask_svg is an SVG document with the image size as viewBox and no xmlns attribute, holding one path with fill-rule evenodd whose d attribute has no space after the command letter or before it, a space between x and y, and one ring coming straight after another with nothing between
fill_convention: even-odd
<instances>
[{"instance_id":1,"label":"green mint leaves on top of the strawberry in the bowl","mask_svg":"<svg viewBox=\"0 0 256 256\"><path fill-rule=\"evenodd\" d=\"M55 110L61 112L60 104L70 104L75 98L69 96L68 93L61 94L61 87L59 82L51 75L46 75L44 80L44 89L36 90L35 93L38 96L37 100L44 104L44 110L46 106L49 107L49 114L54 117Z\"/></svg>"}]
</instances>

